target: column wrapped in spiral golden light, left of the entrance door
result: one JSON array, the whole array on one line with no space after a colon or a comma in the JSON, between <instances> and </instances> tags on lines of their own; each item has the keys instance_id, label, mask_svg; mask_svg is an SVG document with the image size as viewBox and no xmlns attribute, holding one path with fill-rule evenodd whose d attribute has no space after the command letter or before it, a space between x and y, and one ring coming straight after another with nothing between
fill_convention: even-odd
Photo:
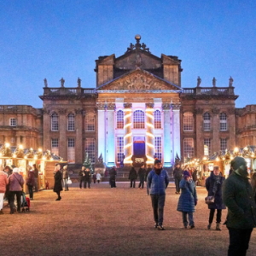
<instances>
[{"instance_id":1,"label":"column wrapped in spiral golden light, left of the entrance door","mask_svg":"<svg viewBox=\"0 0 256 256\"><path fill-rule=\"evenodd\" d=\"M125 166L131 166L132 160L131 160L131 103L125 103L124 104L124 130L125 130L125 136L124 136L124 154L125 154L125 160L124 164Z\"/></svg>"}]
</instances>

